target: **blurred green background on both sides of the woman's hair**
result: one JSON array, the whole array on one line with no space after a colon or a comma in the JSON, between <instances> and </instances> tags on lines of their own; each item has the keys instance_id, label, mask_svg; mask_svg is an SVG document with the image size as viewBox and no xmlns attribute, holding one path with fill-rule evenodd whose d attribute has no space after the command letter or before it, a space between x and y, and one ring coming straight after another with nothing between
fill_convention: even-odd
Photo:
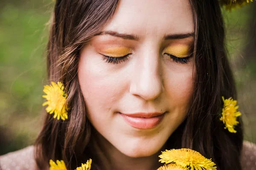
<instances>
[{"instance_id":1,"label":"blurred green background on both sides of the woman's hair","mask_svg":"<svg viewBox=\"0 0 256 170\"><path fill-rule=\"evenodd\" d=\"M0 2L0 155L32 144L42 125L52 0ZM245 139L256 143L256 3L225 11Z\"/></svg>"}]
</instances>

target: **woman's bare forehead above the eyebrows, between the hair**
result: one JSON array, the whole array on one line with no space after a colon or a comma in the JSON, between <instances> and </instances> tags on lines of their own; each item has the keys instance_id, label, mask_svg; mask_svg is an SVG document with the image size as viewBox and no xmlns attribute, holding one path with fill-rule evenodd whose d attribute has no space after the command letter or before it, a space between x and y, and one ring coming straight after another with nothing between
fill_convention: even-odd
<instances>
[{"instance_id":1,"label":"woman's bare forehead above the eyebrows, between the hair","mask_svg":"<svg viewBox=\"0 0 256 170\"><path fill-rule=\"evenodd\" d=\"M104 31L139 36L193 32L189 0L120 0Z\"/></svg>"}]
</instances>

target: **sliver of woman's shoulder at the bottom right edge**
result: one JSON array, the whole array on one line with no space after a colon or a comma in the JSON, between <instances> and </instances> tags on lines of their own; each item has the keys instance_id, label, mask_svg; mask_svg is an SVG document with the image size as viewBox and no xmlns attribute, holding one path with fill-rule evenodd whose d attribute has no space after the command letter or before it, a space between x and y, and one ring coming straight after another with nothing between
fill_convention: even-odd
<instances>
[{"instance_id":1,"label":"sliver of woman's shoulder at the bottom right edge","mask_svg":"<svg viewBox=\"0 0 256 170\"><path fill-rule=\"evenodd\" d=\"M244 141L241 152L243 170L256 170L256 144Z\"/></svg>"}]
</instances>

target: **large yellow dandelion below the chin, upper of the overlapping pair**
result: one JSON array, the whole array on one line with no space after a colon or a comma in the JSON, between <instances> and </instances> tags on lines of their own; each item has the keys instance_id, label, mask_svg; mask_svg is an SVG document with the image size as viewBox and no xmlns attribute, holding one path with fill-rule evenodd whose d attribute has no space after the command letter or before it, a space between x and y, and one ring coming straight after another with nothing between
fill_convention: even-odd
<instances>
[{"instance_id":1,"label":"large yellow dandelion below the chin, upper of the overlapping pair","mask_svg":"<svg viewBox=\"0 0 256 170\"><path fill-rule=\"evenodd\" d=\"M211 159L191 149L166 150L162 151L159 157L161 163L175 163L183 168L190 167L192 170L216 170L215 163Z\"/></svg>"}]
</instances>

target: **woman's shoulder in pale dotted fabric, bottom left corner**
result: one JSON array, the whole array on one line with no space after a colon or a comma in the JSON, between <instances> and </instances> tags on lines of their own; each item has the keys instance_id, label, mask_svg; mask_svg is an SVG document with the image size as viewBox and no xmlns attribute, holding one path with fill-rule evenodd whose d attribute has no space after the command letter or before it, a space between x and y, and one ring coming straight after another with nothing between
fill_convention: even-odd
<instances>
[{"instance_id":1,"label":"woman's shoulder in pale dotted fabric, bottom left corner","mask_svg":"<svg viewBox=\"0 0 256 170\"><path fill-rule=\"evenodd\" d=\"M0 170L38 170L34 158L34 146L0 156Z\"/></svg>"}]
</instances>

